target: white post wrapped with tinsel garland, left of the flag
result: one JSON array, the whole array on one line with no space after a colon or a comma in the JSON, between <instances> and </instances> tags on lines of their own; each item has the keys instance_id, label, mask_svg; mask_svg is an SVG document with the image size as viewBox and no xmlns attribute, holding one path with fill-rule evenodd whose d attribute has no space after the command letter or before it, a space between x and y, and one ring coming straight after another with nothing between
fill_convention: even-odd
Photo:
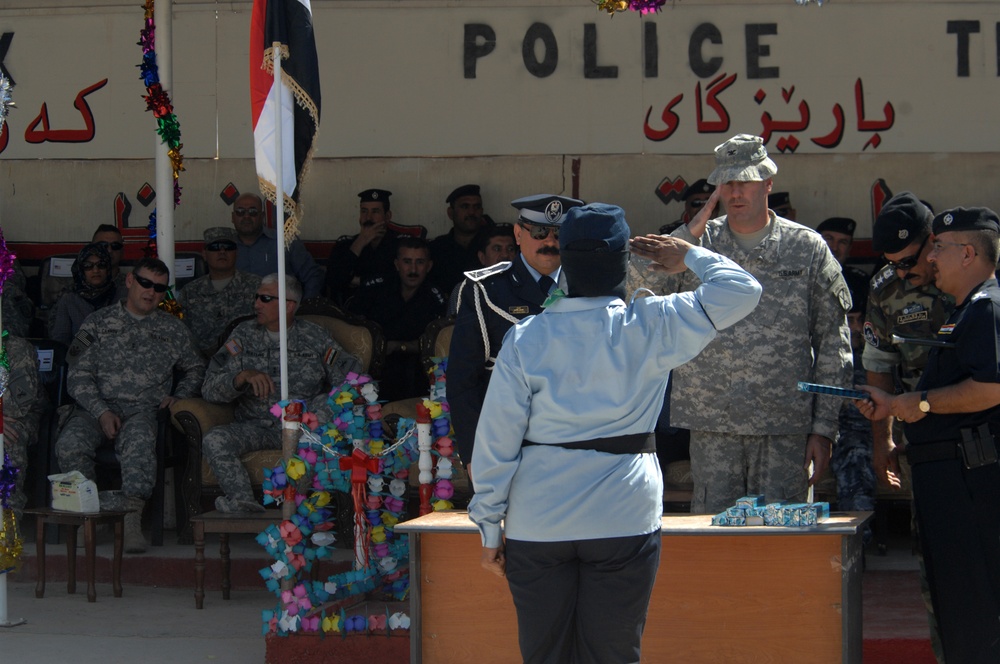
<instances>
[{"instance_id":1,"label":"white post wrapped with tinsel garland, left of the flag","mask_svg":"<svg viewBox=\"0 0 1000 664\"><path fill-rule=\"evenodd\" d=\"M160 85L170 92L173 80L173 11L172 0L159 0L153 5L156 24L156 66ZM174 169L170 162L170 146L159 134L156 140L156 255L167 265L170 278L176 284L174 269Z\"/></svg>"}]
</instances>

